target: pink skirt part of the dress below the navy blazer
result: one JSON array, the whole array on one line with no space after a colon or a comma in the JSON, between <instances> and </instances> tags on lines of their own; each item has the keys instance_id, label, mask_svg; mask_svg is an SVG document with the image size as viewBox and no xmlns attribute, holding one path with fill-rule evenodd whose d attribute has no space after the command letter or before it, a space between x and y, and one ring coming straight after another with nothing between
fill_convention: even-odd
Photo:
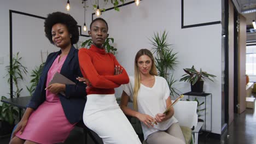
<instances>
[{"instance_id":1,"label":"pink skirt part of the dress below the navy blazer","mask_svg":"<svg viewBox=\"0 0 256 144\"><path fill-rule=\"evenodd\" d=\"M59 143L67 139L74 125L66 118L60 101L44 101L31 114L23 133L18 131L16 136L37 143Z\"/></svg>"}]
</instances>

